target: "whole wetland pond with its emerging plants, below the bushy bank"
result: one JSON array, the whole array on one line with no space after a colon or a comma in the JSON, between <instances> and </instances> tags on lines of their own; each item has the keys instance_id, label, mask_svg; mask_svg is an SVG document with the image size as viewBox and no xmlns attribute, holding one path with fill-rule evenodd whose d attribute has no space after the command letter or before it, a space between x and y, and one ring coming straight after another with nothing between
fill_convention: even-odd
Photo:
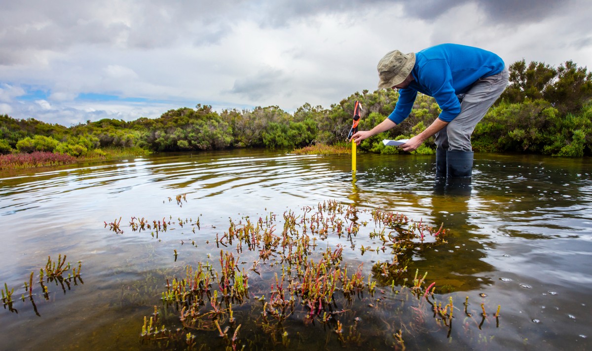
<instances>
[{"instance_id":1,"label":"whole wetland pond with its emerging plants, below the bushy bank","mask_svg":"<svg viewBox=\"0 0 592 351\"><path fill-rule=\"evenodd\" d=\"M2 171L0 348L591 349L589 158L475 154L470 184L350 162Z\"/></svg>"}]
</instances>

